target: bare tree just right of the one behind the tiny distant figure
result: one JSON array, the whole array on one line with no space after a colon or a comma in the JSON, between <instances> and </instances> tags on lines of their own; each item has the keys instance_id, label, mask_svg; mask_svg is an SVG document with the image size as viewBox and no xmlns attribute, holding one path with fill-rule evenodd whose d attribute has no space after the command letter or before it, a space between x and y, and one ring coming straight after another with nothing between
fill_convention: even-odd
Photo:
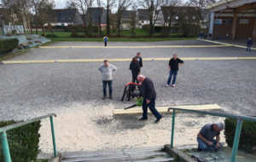
<instances>
[{"instance_id":1,"label":"bare tree just right of the one behind the tiny distant figure","mask_svg":"<svg viewBox=\"0 0 256 162\"><path fill-rule=\"evenodd\" d=\"M118 35L120 35L120 26L121 26L121 19L122 14L125 12L127 8L131 6L132 1L131 0L119 0L119 7L117 11L117 17L118 17Z\"/></svg>"}]
</instances>

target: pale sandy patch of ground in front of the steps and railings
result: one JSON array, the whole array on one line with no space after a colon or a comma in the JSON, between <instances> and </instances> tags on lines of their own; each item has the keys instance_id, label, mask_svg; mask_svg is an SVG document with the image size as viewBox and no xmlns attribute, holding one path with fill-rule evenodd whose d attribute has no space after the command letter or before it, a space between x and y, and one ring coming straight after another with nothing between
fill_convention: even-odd
<instances>
[{"instance_id":1,"label":"pale sandy patch of ground in front of the steps and railings","mask_svg":"<svg viewBox=\"0 0 256 162\"><path fill-rule=\"evenodd\" d=\"M57 114L55 118L55 138L58 152L77 152L93 150L109 150L120 148L159 147L170 143L172 130L172 113L164 114L160 124L154 124L154 117L148 115L148 121L137 121L138 114L131 114L125 124L143 124L137 129L119 129L118 118L113 116L113 105L94 107L77 104ZM73 111L75 109L76 111ZM88 114L95 118L88 118ZM190 116L190 117L189 117ZM221 118L189 115L178 113L174 136L175 145L196 144L195 136L206 123L223 121ZM121 118L121 116L119 116ZM40 129L40 149L43 153L52 153L52 139L49 119L42 121ZM224 142L223 133L221 134Z\"/></svg>"}]
</instances>

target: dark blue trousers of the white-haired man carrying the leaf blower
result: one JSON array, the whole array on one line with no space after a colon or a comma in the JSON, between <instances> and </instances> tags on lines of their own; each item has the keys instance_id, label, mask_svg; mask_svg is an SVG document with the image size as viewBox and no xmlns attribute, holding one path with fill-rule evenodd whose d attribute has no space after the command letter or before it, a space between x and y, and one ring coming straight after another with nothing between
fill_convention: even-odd
<instances>
[{"instance_id":1,"label":"dark blue trousers of the white-haired man carrying the leaf blower","mask_svg":"<svg viewBox=\"0 0 256 162\"><path fill-rule=\"evenodd\" d=\"M147 104L146 99L143 99L143 119L148 119L148 107L151 113L154 114L155 118L161 119L162 116L158 111L155 109L155 98L151 99L150 102Z\"/></svg>"}]
</instances>

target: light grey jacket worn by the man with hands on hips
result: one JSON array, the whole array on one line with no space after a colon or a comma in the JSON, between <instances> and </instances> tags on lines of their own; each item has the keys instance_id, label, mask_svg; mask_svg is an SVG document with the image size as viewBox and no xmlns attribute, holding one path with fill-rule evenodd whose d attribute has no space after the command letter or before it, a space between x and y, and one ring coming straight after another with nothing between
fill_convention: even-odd
<instances>
[{"instance_id":1,"label":"light grey jacket worn by the man with hands on hips","mask_svg":"<svg viewBox=\"0 0 256 162\"><path fill-rule=\"evenodd\" d=\"M108 67L102 64L98 69L102 72L102 80L104 81L112 80L112 74L117 71L117 67L114 67L112 64L108 64Z\"/></svg>"}]
</instances>

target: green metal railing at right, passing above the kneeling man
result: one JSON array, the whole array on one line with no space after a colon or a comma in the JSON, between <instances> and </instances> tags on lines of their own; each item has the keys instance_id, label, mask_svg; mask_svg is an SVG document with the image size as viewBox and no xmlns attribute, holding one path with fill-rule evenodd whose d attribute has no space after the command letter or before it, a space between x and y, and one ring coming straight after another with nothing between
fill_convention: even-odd
<instances>
[{"instance_id":1,"label":"green metal railing at right, passing above the kneeling man","mask_svg":"<svg viewBox=\"0 0 256 162\"><path fill-rule=\"evenodd\" d=\"M241 134L241 124L242 120L245 121L251 121L256 123L256 118L253 117L246 117L246 116L239 116L239 115L230 115L230 114L225 114L225 113L212 113L212 112L204 112L204 111L196 111L196 110L188 110L188 109L183 109L183 108L175 108L175 107L169 107L168 112L172 110L172 137L171 137L171 148L173 148L173 136L174 136L174 124L175 124L175 112L176 111L183 111L183 112L189 112L189 113L201 113L201 114L207 114L207 115L212 115L212 116L217 116L217 117L224 117L224 118L229 118L229 119L237 119L237 124L236 124L236 135L235 135L235 141L233 144L232 148L232 155L231 155L231 162L236 162L236 154L237 154L237 149L238 149L238 144L239 144L239 139L240 139L240 134Z\"/></svg>"}]
</instances>

